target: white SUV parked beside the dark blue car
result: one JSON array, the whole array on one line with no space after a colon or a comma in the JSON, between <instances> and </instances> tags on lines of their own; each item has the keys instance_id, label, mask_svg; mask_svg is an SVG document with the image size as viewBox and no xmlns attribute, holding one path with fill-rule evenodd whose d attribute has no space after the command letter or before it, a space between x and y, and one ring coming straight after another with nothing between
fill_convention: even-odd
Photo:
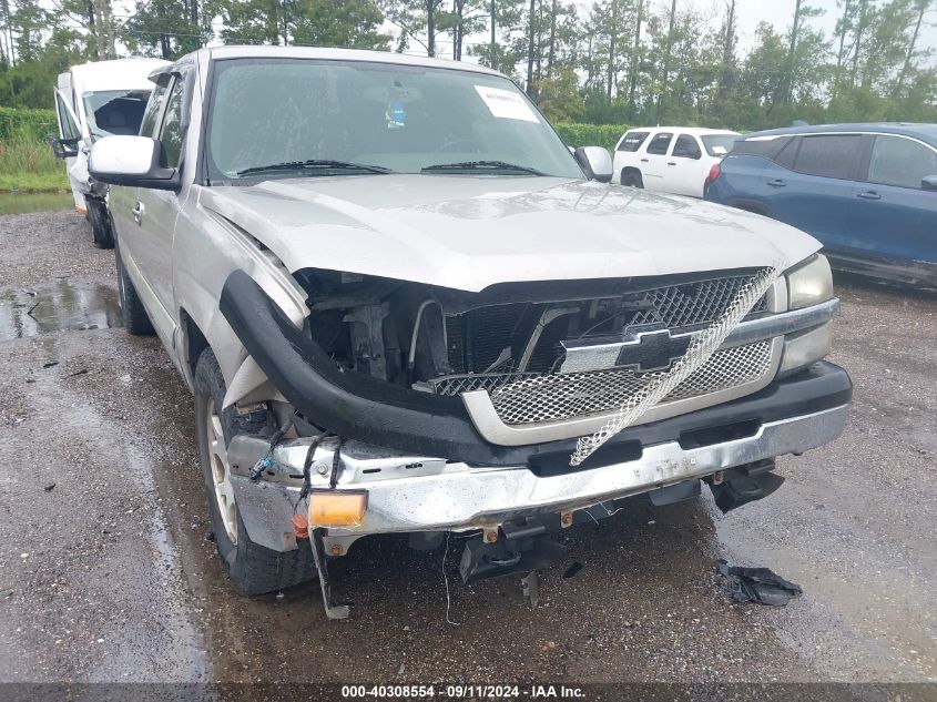
<instances>
[{"instance_id":1,"label":"white SUV parked beside the dark blue car","mask_svg":"<svg viewBox=\"0 0 937 702\"><path fill-rule=\"evenodd\" d=\"M710 169L732 151L739 136L695 126L630 129L615 146L613 182L702 197Z\"/></svg>"}]
</instances>

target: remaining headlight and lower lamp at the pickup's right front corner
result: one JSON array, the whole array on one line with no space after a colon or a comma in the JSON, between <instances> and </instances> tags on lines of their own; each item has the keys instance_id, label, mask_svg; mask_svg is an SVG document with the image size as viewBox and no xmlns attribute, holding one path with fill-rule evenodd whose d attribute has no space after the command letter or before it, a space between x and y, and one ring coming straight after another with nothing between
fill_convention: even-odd
<instances>
[{"instance_id":1,"label":"remaining headlight and lower lamp at the pickup's right front corner","mask_svg":"<svg viewBox=\"0 0 937 702\"><path fill-rule=\"evenodd\" d=\"M787 273L787 308L802 309L833 298L833 273L826 256L814 254ZM780 377L792 375L829 353L833 325L829 322L784 337Z\"/></svg>"}]
</instances>

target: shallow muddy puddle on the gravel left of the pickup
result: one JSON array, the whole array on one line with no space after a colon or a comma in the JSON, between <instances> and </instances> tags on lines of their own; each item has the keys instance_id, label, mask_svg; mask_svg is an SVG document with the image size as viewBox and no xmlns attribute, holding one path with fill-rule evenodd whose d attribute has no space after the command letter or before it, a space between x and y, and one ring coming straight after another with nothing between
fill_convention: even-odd
<instances>
[{"instance_id":1,"label":"shallow muddy puddle on the gravel left of the pickup","mask_svg":"<svg viewBox=\"0 0 937 702\"><path fill-rule=\"evenodd\" d=\"M118 326L123 326L118 293L106 285L60 278L0 288L0 340Z\"/></svg>"}]
</instances>

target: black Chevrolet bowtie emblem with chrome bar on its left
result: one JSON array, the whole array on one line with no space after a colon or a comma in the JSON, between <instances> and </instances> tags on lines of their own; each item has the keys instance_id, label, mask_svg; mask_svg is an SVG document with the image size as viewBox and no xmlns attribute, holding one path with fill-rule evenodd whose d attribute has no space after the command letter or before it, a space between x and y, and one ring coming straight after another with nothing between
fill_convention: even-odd
<instances>
[{"instance_id":1,"label":"black Chevrolet bowtie emblem with chrome bar on its left","mask_svg":"<svg viewBox=\"0 0 937 702\"><path fill-rule=\"evenodd\" d=\"M560 373L633 368L641 373L668 370L681 358L692 334L672 335L668 329L638 332L622 338L562 342L567 352Z\"/></svg>"}]
</instances>

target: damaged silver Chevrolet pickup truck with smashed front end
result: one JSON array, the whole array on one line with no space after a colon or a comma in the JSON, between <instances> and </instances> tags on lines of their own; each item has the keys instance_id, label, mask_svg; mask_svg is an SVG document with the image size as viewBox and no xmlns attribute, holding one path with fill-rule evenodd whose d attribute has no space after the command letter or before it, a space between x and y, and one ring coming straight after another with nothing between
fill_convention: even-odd
<instances>
[{"instance_id":1,"label":"damaged silver Chevrolet pickup truck with smashed front end","mask_svg":"<svg viewBox=\"0 0 937 702\"><path fill-rule=\"evenodd\" d=\"M124 322L195 395L235 586L318 576L367 535L467 532L466 580L527 572L622 498L773 491L852 384L818 243L608 183L488 69L205 49L94 144ZM475 536L471 536L475 532Z\"/></svg>"}]
</instances>

